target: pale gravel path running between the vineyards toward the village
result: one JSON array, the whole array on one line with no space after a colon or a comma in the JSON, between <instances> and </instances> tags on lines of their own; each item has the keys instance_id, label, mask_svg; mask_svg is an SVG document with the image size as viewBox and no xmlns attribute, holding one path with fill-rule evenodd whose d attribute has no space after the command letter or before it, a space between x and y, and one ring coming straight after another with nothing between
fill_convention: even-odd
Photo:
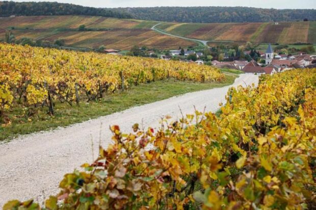
<instances>
[{"instance_id":1,"label":"pale gravel path running between the vineyards toward the village","mask_svg":"<svg viewBox=\"0 0 316 210\"><path fill-rule=\"evenodd\" d=\"M233 86L257 83L258 77L242 74ZM232 86L232 85L231 85ZM193 105L200 111L217 111L230 86L189 93L159 102L138 106L122 112L102 116L84 123L53 131L21 136L0 144L0 208L11 199L35 198L42 202L47 195L58 193L63 175L91 163L98 155L98 142L111 142L110 125L119 125L122 131L131 131L134 123L157 127L162 116L180 117L193 113ZM94 158L92 156L92 141Z\"/></svg>"}]
</instances>

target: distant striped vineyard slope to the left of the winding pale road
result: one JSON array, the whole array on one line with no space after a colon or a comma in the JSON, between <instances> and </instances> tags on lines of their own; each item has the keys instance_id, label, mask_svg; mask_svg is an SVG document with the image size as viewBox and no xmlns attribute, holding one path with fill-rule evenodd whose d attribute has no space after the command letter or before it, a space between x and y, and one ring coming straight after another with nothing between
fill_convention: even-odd
<instances>
[{"instance_id":1,"label":"distant striped vineyard slope to the left of the winding pale road","mask_svg":"<svg viewBox=\"0 0 316 210\"><path fill-rule=\"evenodd\" d=\"M89 31L78 31L84 24ZM170 38L150 28L155 21L115 19L95 16L29 16L0 18L0 39L10 29L17 38L54 41L63 38L71 47L99 47L130 49L134 45L159 49L194 46L196 43ZM13 28L13 29L12 29Z\"/></svg>"}]
</instances>

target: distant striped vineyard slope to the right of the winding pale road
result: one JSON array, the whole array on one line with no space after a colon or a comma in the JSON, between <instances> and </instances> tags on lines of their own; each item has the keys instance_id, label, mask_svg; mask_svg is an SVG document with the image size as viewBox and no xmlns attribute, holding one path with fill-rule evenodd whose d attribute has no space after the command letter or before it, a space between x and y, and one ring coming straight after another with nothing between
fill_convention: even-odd
<instances>
[{"instance_id":1,"label":"distant striped vineyard slope to the right of the winding pale road","mask_svg":"<svg viewBox=\"0 0 316 210\"><path fill-rule=\"evenodd\" d=\"M188 38L254 43L316 43L316 22L162 23L164 31Z\"/></svg>"}]
</instances>

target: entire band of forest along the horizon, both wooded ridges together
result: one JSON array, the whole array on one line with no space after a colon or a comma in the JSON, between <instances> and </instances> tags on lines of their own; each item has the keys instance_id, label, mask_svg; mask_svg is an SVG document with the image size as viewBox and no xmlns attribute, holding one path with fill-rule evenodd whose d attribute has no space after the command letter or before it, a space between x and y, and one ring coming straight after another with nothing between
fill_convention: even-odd
<instances>
[{"instance_id":1,"label":"entire band of forest along the horizon, both wooded ridges together","mask_svg":"<svg viewBox=\"0 0 316 210\"><path fill-rule=\"evenodd\" d=\"M313 21L314 9L260 9L250 7L93 8L57 2L0 2L0 17L36 15L90 15L167 22Z\"/></svg>"}]
</instances>

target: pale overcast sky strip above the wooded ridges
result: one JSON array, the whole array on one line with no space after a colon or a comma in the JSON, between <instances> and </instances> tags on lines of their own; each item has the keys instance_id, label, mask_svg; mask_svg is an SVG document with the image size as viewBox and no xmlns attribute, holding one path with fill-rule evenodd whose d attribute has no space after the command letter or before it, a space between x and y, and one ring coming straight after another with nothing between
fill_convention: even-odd
<instances>
[{"instance_id":1,"label":"pale overcast sky strip above the wooded ridges","mask_svg":"<svg viewBox=\"0 0 316 210\"><path fill-rule=\"evenodd\" d=\"M16 0L15 2L59 2L89 7L192 7L192 6L224 6L224 7L256 7L275 9L316 9L316 0Z\"/></svg>"}]
</instances>

